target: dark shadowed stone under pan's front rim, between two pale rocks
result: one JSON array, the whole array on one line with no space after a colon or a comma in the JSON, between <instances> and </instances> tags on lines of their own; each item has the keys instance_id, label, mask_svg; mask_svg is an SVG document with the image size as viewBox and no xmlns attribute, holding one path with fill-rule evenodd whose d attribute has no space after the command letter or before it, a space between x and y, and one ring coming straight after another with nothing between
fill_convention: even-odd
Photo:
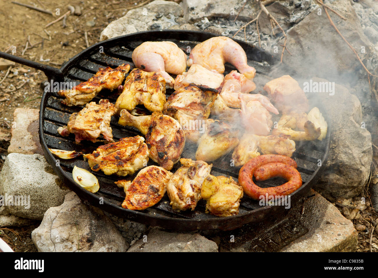
<instances>
[{"instance_id":1,"label":"dark shadowed stone under pan's front rim, between two pale rocks","mask_svg":"<svg viewBox=\"0 0 378 278\"><path fill-rule=\"evenodd\" d=\"M121 232L121 235L126 239L126 242L132 245L136 240L142 237L147 230L147 226L138 222L130 221L118 216L107 214L116 228Z\"/></svg>"}]
</instances>

